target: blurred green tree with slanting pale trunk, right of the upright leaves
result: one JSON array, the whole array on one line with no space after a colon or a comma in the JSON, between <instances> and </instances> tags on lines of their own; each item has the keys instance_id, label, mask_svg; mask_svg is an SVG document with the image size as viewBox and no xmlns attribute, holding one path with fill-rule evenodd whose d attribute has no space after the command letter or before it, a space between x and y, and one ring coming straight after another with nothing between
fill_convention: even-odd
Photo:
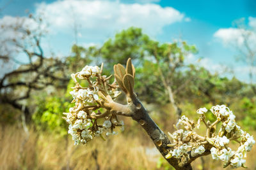
<instances>
[{"instance_id":1,"label":"blurred green tree with slanting pale trunk, right of the upright leaves","mask_svg":"<svg viewBox=\"0 0 256 170\"><path fill-rule=\"evenodd\" d=\"M196 48L195 46L189 46L185 41L161 44L158 41L149 40L146 49L148 61L150 60L151 65L156 68L154 72L158 79L157 81L160 81L163 85L161 90L159 88L152 90L154 92L159 90L159 94L163 95L161 98L165 98L163 101L170 102L175 113L180 117L182 110L177 104L175 94L183 90L187 83L193 80L193 78L189 78L188 81L180 81L180 75L185 69L184 59L186 55L196 53ZM147 70L145 71L147 72Z\"/></svg>"}]
</instances>

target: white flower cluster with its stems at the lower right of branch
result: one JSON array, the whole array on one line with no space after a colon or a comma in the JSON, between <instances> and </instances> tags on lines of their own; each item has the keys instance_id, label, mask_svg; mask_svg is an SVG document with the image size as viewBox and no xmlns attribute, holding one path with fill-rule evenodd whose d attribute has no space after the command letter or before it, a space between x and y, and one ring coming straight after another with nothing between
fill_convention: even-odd
<instances>
[{"instance_id":1,"label":"white flower cluster with its stems at the lower right of branch","mask_svg":"<svg viewBox=\"0 0 256 170\"><path fill-rule=\"evenodd\" d=\"M231 168L245 167L246 152L250 152L255 144L253 136L244 132L237 125L236 116L225 105L212 106L210 111L216 116L216 121L213 123L205 121L207 111L206 108L200 108L196 111L200 115L196 125L193 120L189 120L185 116L180 118L174 126L177 131L173 134L169 133L173 143L168 145L172 149L166 155L166 159L186 157L189 151L193 157L196 157L208 150L211 152L212 159L225 162L224 167L229 165ZM200 127L201 122L204 122L207 129L205 136L200 136L195 132L195 127ZM215 134L218 123L221 124L220 131ZM236 151L228 147L230 141L239 143Z\"/></svg>"}]
</instances>

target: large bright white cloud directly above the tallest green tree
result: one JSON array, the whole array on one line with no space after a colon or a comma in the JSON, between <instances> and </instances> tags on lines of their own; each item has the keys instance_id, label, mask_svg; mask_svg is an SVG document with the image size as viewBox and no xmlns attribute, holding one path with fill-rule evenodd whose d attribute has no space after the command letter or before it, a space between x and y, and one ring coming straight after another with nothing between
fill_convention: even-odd
<instances>
[{"instance_id":1,"label":"large bright white cloud directly above the tallest green tree","mask_svg":"<svg viewBox=\"0 0 256 170\"><path fill-rule=\"evenodd\" d=\"M158 4L124 4L119 1L56 1L37 4L36 15L44 13L56 32L72 32L74 21L83 38L104 38L127 27L141 27L156 36L165 25L184 20L184 14Z\"/></svg>"}]
</instances>

